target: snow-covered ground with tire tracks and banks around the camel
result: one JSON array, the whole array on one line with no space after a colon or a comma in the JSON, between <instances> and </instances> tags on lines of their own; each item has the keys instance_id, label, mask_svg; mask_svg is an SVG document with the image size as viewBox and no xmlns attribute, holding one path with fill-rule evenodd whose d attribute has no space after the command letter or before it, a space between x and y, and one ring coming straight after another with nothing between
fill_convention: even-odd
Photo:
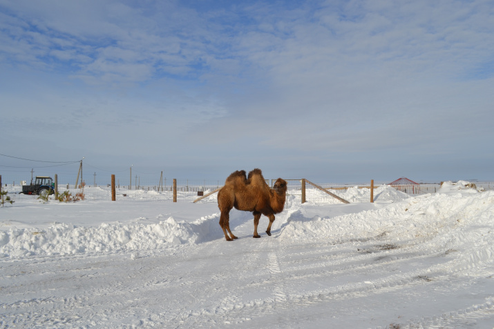
<instances>
[{"instance_id":1,"label":"snow-covered ground with tire tracks and banks around the camel","mask_svg":"<svg viewBox=\"0 0 494 329\"><path fill-rule=\"evenodd\" d=\"M1 328L494 328L494 192L466 182L293 191L231 242L216 195L84 192L0 208Z\"/></svg>"}]
</instances>

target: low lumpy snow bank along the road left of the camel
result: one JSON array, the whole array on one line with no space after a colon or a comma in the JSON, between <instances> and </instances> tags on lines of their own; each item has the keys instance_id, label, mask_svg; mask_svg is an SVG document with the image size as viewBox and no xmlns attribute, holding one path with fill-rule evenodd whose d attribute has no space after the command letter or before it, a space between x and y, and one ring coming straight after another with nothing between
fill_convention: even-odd
<instances>
[{"instance_id":1,"label":"low lumpy snow bank along the road left of the camel","mask_svg":"<svg viewBox=\"0 0 494 329\"><path fill-rule=\"evenodd\" d=\"M46 230L12 229L0 232L0 257L91 255L95 253L151 250L218 239L223 233L219 215L193 223L169 217L159 223L109 224L94 228L55 223Z\"/></svg>"}]
</instances>

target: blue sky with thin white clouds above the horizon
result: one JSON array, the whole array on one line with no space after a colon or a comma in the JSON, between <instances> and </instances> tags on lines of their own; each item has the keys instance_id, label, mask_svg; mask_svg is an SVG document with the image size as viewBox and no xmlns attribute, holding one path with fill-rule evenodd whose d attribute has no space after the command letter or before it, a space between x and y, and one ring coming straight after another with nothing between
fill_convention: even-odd
<instances>
[{"instance_id":1,"label":"blue sky with thin white clouds above the horizon","mask_svg":"<svg viewBox=\"0 0 494 329\"><path fill-rule=\"evenodd\" d=\"M0 0L0 154L492 180L493 21L492 1ZM0 156L3 175L41 164Z\"/></svg>"}]
</instances>

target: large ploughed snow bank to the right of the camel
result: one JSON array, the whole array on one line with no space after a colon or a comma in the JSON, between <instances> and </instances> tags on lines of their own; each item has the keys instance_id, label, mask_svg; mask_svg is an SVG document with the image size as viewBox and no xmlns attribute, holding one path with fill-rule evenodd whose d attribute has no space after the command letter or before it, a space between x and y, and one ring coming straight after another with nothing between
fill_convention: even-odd
<instances>
[{"instance_id":1,"label":"large ploughed snow bank to the right of the camel","mask_svg":"<svg viewBox=\"0 0 494 329\"><path fill-rule=\"evenodd\" d=\"M465 184L464 184L465 185ZM292 212L283 224L281 237L294 240L349 241L387 239L394 241L425 240L437 246L457 245L466 239L462 228L475 223L490 232L494 220L494 192L479 193L469 188L449 188L437 194L404 199L377 210L366 210L337 217L306 217L303 208ZM434 241L435 237L441 237ZM492 234L471 237L494 246ZM486 240L488 239L488 241ZM453 243L453 240L456 242Z\"/></svg>"}]
</instances>

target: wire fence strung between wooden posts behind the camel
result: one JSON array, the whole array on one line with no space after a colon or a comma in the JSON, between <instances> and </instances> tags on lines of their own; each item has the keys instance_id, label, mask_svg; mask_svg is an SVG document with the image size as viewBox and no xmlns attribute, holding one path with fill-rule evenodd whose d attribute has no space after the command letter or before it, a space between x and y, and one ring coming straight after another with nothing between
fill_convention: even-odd
<instances>
[{"instance_id":1,"label":"wire fence strung between wooden posts behind the camel","mask_svg":"<svg viewBox=\"0 0 494 329\"><path fill-rule=\"evenodd\" d=\"M91 177L92 176L92 177ZM57 175L57 187L59 193L67 191L71 195L76 195L78 192L84 193L84 197L88 200L111 200L111 175L91 175L89 179L77 179L73 175ZM33 177L34 178L34 177ZM53 177L54 178L54 177ZM301 179L285 179L287 185L287 195L301 196ZM276 179L266 179L266 183L272 186ZM25 177L3 177L2 188L8 192L10 199L27 200L37 196L23 195L21 184L29 185L31 183L25 180ZM177 179L176 189L178 193L178 201L193 201L200 195L205 195L208 192L216 190L223 185L224 181L211 179ZM374 188L377 188L384 182L374 183ZM327 190L348 190L348 188L370 188L369 183L319 183ZM493 181L475 182L478 190L494 190ZM439 183L427 183L408 186L392 186L396 190L405 192L408 195L423 195L426 193L437 192L441 185ZM306 186L307 190L313 189L312 186ZM150 201L162 200L173 201L173 179L135 175L120 175L115 177L115 192L117 201ZM53 198L53 197L52 197ZM205 201L216 202L216 195L211 195Z\"/></svg>"}]
</instances>

